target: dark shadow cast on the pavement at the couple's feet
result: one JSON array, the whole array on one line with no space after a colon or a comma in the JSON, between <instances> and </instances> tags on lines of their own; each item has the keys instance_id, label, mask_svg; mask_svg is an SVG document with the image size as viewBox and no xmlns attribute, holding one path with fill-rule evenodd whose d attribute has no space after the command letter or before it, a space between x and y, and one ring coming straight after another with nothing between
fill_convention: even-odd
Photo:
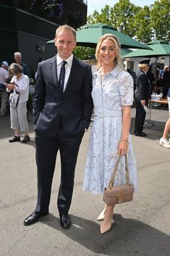
<instances>
[{"instance_id":1,"label":"dark shadow cast on the pavement at the couple's feet","mask_svg":"<svg viewBox=\"0 0 170 256\"><path fill-rule=\"evenodd\" d=\"M115 214L111 231L101 235L99 233L100 224L75 215L70 216L73 224L69 230L63 230L59 225L59 219L52 214L41 222L61 231L69 239L96 254L111 256L169 255L170 236L139 220L125 219L122 215Z\"/></svg>"}]
</instances>

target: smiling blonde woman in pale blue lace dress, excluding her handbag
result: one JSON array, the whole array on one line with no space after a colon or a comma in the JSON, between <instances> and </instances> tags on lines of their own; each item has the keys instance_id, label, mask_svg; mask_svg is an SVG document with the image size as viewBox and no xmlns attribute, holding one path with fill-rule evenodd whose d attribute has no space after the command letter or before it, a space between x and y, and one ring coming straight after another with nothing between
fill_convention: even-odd
<instances>
[{"instance_id":1,"label":"smiling blonde woman in pale blue lace dress, excluding her handbag","mask_svg":"<svg viewBox=\"0 0 170 256\"><path fill-rule=\"evenodd\" d=\"M119 39L105 34L95 51L98 71L93 75L94 120L85 166L83 191L101 194L109 185L116 154L127 154L130 183L137 191L137 170L129 136L130 110L133 102L132 76L122 69ZM117 170L114 185L125 183L124 158ZM101 234L109 231L114 206L107 205L98 220Z\"/></svg>"}]
</instances>

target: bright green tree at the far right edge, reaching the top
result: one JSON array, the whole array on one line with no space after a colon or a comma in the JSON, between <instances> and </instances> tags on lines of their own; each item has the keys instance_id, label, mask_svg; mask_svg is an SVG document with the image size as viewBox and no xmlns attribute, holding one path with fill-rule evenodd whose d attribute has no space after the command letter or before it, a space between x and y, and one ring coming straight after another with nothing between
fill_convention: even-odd
<instances>
[{"instance_id":1,"label":"bright green tree at the far right edge, reaching the top","mask_svg":"<svg viewBox=\"0 0 170 256\"><path fill-rule=\"evenodd\" d=\"M155 1L151 12L150 22L156 40L170 42L170 1Z\"/></svg>"}]
</instances>

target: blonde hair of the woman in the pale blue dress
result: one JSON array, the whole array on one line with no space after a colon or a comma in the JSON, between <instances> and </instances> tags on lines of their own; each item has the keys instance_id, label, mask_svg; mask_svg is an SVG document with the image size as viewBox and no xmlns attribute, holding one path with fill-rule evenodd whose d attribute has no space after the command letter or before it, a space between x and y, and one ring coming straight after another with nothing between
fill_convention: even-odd
<instances>
[{"instance_id":1,"label":"blonde hair of the woman in the pale blue dress","mask_svg":"<svg viewBox=\"0 0 170 256\"><path fill-rule=\"evenodd\" d=\"M122 68L122 57L121 57L121 53L120 53L121 44L120 44L119 38L117 38L116 36L114 36L110 33L104 34L98 40L98 44L97 44L96 49L95 49L95 58L98 61L97 67L98 68L101 67L101 59L99 57L99 51L100 51L100 48L101 48L101 44L106 39L109 39L109 40L114 42L115 51L116 51L116 57L114 59L114 63L115 63L115 65L117 64L120 68Z\"/></svg>"}]
</instances>

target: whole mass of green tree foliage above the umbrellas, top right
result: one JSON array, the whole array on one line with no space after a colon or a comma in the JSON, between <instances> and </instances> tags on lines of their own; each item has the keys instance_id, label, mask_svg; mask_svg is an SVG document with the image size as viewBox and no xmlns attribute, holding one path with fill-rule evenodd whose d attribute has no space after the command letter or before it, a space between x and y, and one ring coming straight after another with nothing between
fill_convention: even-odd
<instances>
[{"instance_id":1,"label":"whole mass of green tree foliage above the umbrellas, top right","mask_svg":"<svg viewBox=\"0 0 170 256\"><path fill-rule=\"evenodd\" d=\"M139 7L129 0L119 0L113 7L106 6L101 13L88 16L88 24L102 22L127 36L148 43L161 40L170 42L170 1L158 0L150 7Z\"/></svg>"}]
</instances>

